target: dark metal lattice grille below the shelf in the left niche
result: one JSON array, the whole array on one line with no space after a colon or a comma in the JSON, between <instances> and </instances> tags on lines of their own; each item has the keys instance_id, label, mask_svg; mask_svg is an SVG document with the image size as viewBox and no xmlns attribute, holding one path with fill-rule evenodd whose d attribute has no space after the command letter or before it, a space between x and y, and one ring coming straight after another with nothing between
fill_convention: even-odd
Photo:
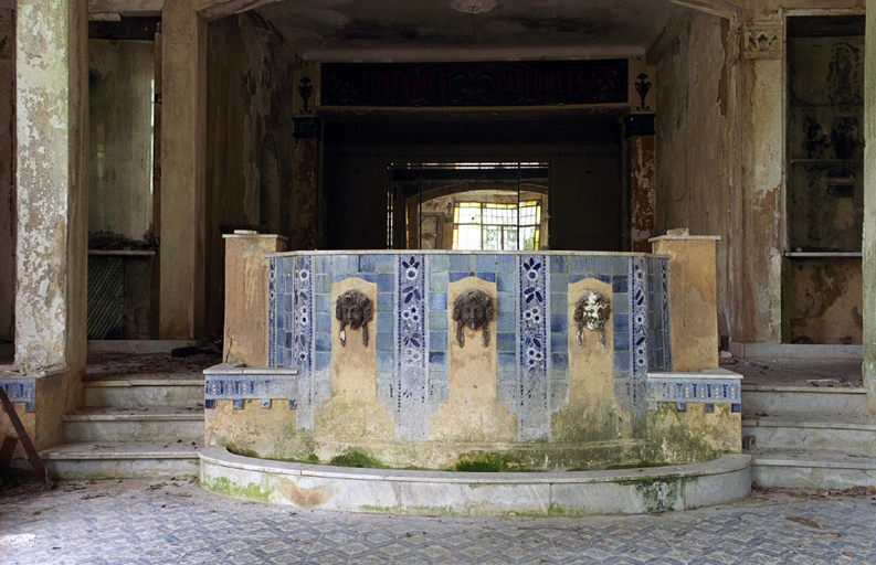
<instances>
[{"instance_id":1,"label":"dark metal lattice grille below the shelf in the left niche","mask_svg":"<svg viewBox=\"0 0 876 565\"><path fill-rule=\"evenodd\" d=\"M124 259L88 257L88 339L120 340L124 310Z\"/></svg>"}]
</instances>

